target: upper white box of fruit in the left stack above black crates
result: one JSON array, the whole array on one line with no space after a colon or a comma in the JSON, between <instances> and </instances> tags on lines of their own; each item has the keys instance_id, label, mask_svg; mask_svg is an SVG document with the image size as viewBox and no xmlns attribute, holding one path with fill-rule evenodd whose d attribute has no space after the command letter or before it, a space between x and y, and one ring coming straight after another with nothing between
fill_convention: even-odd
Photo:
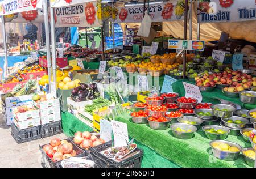
<instances>
[{"instance_id":1,"label":"upper white box of fruit in the left stack above black crates","mask_svg":"<svg viewBox=\"0 0 256 179\"><path fill-rule=\"evenodd\" d=\"M28 104L27 107L33 109L32 104ZM18 107L13 108L13 116L14 116L14 119L18 122L27 121L27 120L34 119L34 118L39 118L39 120L40 120L40 114L39 114L38 109L28 110L27 112L24 112L24 113L15 113L16 110L18 110Z\"/></svg>"}]
</instances>

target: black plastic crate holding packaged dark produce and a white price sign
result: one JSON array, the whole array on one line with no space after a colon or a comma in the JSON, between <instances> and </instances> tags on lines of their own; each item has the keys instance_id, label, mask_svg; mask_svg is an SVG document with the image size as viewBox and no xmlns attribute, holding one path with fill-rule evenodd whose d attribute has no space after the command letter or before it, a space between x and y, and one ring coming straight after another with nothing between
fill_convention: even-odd
<instances>
[{"instance_id":1,"label":"black plastic crate holding packaged dark produce and a white price sign","mask_svg":"<svg viewBox=\"0 0 256 179\"><path fill-rule=\"evenodd\" d=\"M134 156L131 156L119 163L101 154L101 151L104 151L107 148L112 147L112 142L113 141L109 141L99 146L91 147L89 149L93 161L97 164L99 168L141 168L143 150L139 148L134 150L134 152L139 151L138 154L135 154Z\"/></svg>"}]
</instances>

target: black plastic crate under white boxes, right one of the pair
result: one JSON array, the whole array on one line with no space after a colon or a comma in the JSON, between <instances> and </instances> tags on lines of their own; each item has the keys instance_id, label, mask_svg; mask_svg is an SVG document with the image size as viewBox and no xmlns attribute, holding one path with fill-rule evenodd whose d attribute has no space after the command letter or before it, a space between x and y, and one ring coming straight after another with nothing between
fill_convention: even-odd
<instances>
[{"instance_id":1,"label":"black plastic crate under white boxes, right one of the pair","mask_svg":"<svg viewBox=\"0 0 256 179\"><path fill-rule=\"evenodd\" d=\"M41 126L41 137L46 138L52 135L63 133L61 121L47 123Z\"/></svg>"}]
</instances>

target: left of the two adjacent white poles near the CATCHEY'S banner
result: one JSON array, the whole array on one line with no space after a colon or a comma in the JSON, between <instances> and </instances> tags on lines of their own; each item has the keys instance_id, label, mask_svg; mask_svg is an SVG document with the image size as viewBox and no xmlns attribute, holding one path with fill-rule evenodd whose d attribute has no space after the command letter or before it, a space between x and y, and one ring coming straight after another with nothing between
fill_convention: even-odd
<instances>
[{"instance_id":1,"label":"left of the two adjacent white poles near the CATCHEY'S banner","mask_svg":"<svg viewBox=\"0 0 256 179\"><path fill-rule=\"evenodd\" d=\"M47 53L47 70L49 76L49 82L52 79L52 64L51 64L51 45L49 40L49 22L48 22L48 4L47 0L43 1L43 8L44 8L44 29L46 32L46 53ZM49 89L51 89L51 83L49 83Z\"/></svg>"}]
</instances>

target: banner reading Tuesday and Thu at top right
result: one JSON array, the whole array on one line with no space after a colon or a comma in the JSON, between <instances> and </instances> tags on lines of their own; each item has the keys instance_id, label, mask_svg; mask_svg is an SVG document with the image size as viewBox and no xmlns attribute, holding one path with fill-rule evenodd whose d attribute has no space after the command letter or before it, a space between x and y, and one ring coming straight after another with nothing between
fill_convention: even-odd
<instances>
[{"instance_id":1,"label":"banner reading Tuesday and Thu at top right","mask_svg":"<svg viewBox=\"0 0 256 179\"><path fill-rule=\"evenodd\" d=\"M255 0L200 0L197 2L200 23L256 20Z\"/></svg>"}]
</instances>

